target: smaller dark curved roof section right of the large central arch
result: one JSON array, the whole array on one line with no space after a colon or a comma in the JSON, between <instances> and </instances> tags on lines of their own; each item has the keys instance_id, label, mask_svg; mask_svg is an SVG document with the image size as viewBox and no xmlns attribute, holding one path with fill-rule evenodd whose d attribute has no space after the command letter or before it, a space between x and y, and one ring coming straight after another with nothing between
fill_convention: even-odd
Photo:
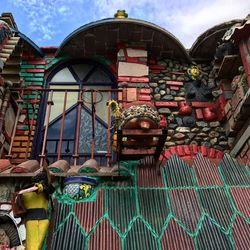
<instances>
[{"instance_id":1,"label":"smaller dark curved roof section right of the large central arch","mask_svg":"<svg viewBox=\"0 0 250 250\"><path fill-rule=\"evenodd\" d=\"M242 20L236 19L216 25L202 33L193 43L189 50L189 55L193 59L211 60L215 54L217 43L223 37L225 32L234 24Z\"/></svg>"}]
</instances>

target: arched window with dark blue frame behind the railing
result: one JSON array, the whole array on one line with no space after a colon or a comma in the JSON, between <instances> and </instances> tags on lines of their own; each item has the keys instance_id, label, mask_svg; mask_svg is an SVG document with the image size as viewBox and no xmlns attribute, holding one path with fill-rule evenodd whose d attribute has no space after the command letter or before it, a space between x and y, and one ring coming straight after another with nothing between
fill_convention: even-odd
<instances>
[{"instance_id":1,"label":"arched window with dark blue frame behind the railing","mask_svg":"<svg viewBox=\"0 0 250 250\"><path fill-rule=\"evenodd\" d=\"M66 159L72 164L80 90L83 91L83 105L80 111L78 141L78 154L80 158L78 162L81 164L91 156L94 123L95 158L99 160L100 164L105 164L108 141L108 108L106 105L108 92L99 90L111 90L114 87L114 76L103 65L93 61L67 63L59 66L49 75L47 88L53 90L53 106L50 113L46 142L46 159L49 161L49 164L58 159L58 147L63 119L64 129L60 158ZM67 90L66 97L63 90ZM86 90L93 90L93 92L85 92ZM50 98L49 95L47 95L47 98ZM64 103L66 104L65 112L63 112ZM93 118L93 111L95 119Z\"/></svg>"}]
</instances>

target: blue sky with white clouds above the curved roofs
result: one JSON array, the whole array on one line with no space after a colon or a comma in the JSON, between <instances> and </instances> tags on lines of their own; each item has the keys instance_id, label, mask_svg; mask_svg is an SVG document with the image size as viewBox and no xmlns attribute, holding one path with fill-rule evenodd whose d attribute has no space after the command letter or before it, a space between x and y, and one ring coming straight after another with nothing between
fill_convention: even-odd
<instances>
[{"instance_id":1,"label":"blue sky with white clouds above the curved roofs","mask_svg":"<svg viewBox=\"0 0 250 250\"><path fill-rule=\"evenodd\" d=\"M249 0L0 0L0 13L12 12L19 30L39 46L59 46L78 27L113 17L153 22L174 34L186 48L214 25L242 19Z\"/></svg>"}]
</instances>

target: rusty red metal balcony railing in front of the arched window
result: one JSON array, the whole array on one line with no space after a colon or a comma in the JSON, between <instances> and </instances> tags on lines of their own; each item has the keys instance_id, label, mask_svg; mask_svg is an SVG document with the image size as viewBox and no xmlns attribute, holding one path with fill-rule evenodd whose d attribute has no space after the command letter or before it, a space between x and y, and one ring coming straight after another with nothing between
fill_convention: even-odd
<instances>
[{"instance_id":1,"label":"rusty red metal balcony railing in front of the arched window","mask_svg":"<svg viewBox=\"0 0 250 250\"><path fill-rule=\"evenodd\" d=\"M13 128L13 133L11 137L11 143L9 147L9 153L7 155L8 158L12 158L12 149L14 145L14 140L15 136L17 135L18 131L18 125L20 125L19 121L19 116L20 114L24 113L25 110L29 116L27 116L27 123L29 127L29 132L28 132L28 140L27 140L27 146L25 150L25 160L29 159L29 151L30 151L30 145L36 141L36 138L34 138L34 128L35 125L38 126L37 121L42 124L40 125L40 131L37 131L37 133L42 133L42 143L40 145L40 166L43 166L45 163L46 158L50 155L53 157L53 159L56 156L56 160L60 160L65 157L65 154L73 159L73 165L78 164L78 159L79 157L84 157L86 159L88 157L87 153L90 153L89 158L95 158L100 157L104 155L103 157L106 158L106 163L109 166L111 163L111 130L112 130L112 118L111 118L111 111L110 107L106 105L106 103L103 103L103 105L106 105L106 113L107 113L107 118L106 118L106 136L107 136L107 148L106 152L104 154L100 154L98 152L95 152L95 126L96 126L96 119L97 119L97 114L96 114L96 109L95 106L98 102L97 100L97 95L105 93L106 94L106 101L109 102L111 98L116 98L118 95L118 92L121 92L122 90L118 89L98 89L98 90L93 90L93 89L66 89L66 88L61 88L61 89L48 89L48 88L28 88L28 89L23 89L23 88L12 88L11 93L14 95L18 95L17 99L17 112L16 112L16 119L14 122L14 128ZM61 92L62 93L62 98L63 98L63 105L62 105L62 110L60 113L60 119L61 119L61 127L60 127L60 135L59 138L51 139L48 138L48 132L50 129L50 122L51 122L51 114L53 111L53 105L55 104L54 100L54 93ZM75 131L72 131L74 133L74 139L67 139L64 138L64 127L65 127L65 117L67 113L67 103L69 101L69 93L72 92L77 92L78 93L78 98L75 102L75 108L76 108L76 126L75 126ZM90 111L91 111L91 123L88 124L88 126L91 126L92 130L92 135L91 135L91 152L79 152L79 138L80 138L80 130L81 130L81 110L82 107L84 107L84 93L89 93L91 96L90 100L87 101ZM24 106L25 105L25 106ZM38 108L38 105L39 108ZM27 107L31 106L32 109L29 109ZM45 113L46 112L46 113ZM35 117L35 114L39 116L39 119ZM43 117L43 118L42 118ZM39 127L39 126L38 126ZM83 132L84 133L84 132ZM36 135L37 136L37 135ZM46 146L48 142L54 141L56 143L56 151L54 152L47 152ZM63 143L73 143L73 152L69 150L68 152L62 152L62 144Z\"/></svg>"}]
</instances>

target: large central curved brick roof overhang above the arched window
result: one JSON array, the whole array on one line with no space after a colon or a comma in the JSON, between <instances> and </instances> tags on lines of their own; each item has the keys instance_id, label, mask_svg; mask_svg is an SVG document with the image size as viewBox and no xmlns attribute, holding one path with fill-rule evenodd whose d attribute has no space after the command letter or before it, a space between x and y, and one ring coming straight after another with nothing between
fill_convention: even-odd
<instances>
[{"instance_id":1,"label":"large central curved brick roof overhang above the arched window","mask_svg":"<svg viewBox=\"0 0 250 250\"><path fill-rule=\"evenodd\" d=\"M174 35L150 22L131 18L109 18L83 25L64 39L57 55L110 55L117 53L117 44L128 42L146 48L154 56L189 61L186 49Z\"/></svg>"}]
</instances>

